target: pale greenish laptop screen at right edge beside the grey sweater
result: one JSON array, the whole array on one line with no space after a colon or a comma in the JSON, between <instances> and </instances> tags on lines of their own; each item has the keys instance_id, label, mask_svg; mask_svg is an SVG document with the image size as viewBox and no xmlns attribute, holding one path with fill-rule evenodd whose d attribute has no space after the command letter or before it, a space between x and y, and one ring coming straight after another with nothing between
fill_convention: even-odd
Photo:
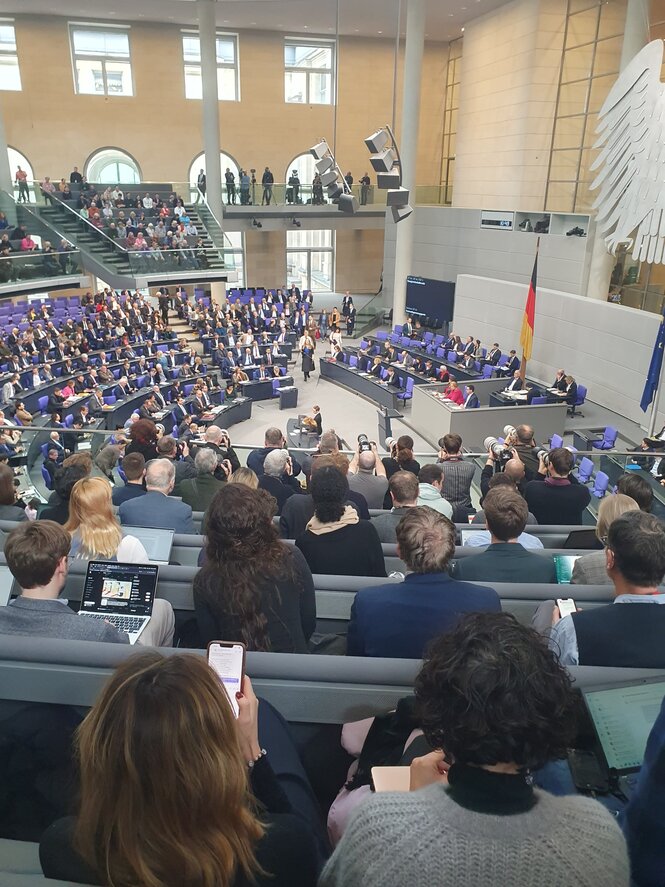
<instances>
[{"instance_id":1,"label":"pale greenish laptop screen at right edge beside the grey sweater","mask_svg":"<svg viewBox=\"0 0 665 887\"><path fill-rule=\"evenodd\" d=\"M584 691L610 770L637 770L642 766L647 739L664 696L662 678Z\"/></svg>"}]
</instances>

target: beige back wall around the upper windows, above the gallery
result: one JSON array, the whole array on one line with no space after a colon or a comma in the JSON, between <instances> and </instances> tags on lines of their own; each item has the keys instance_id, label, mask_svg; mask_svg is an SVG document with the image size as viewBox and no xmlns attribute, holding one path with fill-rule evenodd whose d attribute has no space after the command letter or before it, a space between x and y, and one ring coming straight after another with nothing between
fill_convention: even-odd
<instances>
[{"instance_id":1,"label":"beige back wall around the upper windows, above the gallery","mask_svg":"<svg viewBox=\"0 0 665 887\"><path fill-rule=\"evenodd\" d=\"M132 24L135 95L124 98L75 95L65 18L17 15L15 26L23 91L0 92L0 111L8 143L38 177L68 175L94 151L115 146L136 159L144 181L186 179L203 150L202 120L201 102L184 96L179 27ZM423 183L438 181L446 57L446 44L427 44L418 170ZM239 58L241 101L220 103L222 150L248 168L270 165L279 181L297 154L321 137L332 141L333 107L284 102L282 34L241 32ZM369 167L363 139L392 118L393 60L393 41L340 40L337 155L356 179ZM398 90L401 66L400 55Z\"/></svg>"}]
</instances>

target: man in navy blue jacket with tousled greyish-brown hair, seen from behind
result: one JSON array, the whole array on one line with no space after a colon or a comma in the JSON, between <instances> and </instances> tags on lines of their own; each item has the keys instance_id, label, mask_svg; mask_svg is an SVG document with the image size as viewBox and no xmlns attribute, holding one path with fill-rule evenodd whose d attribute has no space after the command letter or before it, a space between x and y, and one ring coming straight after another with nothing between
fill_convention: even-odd
<instances>
[{"instance_id":1,"label":"man in navy blue jacket with tousled greyish-brown hair, seen from behind","mask_svg":"<svg viewBox=\"0 0 665 887\"><path fill-rule=\"evenodd\" d=\"M397 525L403 582L365 588L351 606L347 655L421 659L429 641L466 613L501 611L492 588L451 579L455 527L433 508L407 508Z\"/></svg>"}]
</instances>

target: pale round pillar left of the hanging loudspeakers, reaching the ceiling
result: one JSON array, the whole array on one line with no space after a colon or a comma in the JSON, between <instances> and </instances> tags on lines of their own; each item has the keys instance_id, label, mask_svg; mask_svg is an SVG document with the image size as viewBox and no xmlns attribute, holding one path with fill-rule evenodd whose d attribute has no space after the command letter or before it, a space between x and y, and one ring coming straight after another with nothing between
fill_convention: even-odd
<instances>
[{"instance_id":1,"label":"pale round pillar left of the hanging loudspeakers, reaching the ceiling","mask_svg":"<svg viewBox=\"0 0 665 887\"><path fill-rule=\"evenodd\" d=\"M219 95L217 91L216 0L197 0L203 90L203 149L206 158L206 199L221 225L222 174L219 165Z\"/></svg>"}]
</instances>

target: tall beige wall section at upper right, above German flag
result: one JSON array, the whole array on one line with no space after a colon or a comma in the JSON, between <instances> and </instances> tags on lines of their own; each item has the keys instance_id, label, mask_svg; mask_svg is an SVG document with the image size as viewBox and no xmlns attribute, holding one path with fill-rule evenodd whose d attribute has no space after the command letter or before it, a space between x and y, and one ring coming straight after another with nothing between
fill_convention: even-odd
<instances>
[{"instance_id":1,"label":"tall beige wall section at upper right, above German flag","mask_svg":"<svg viewBox=\"0 0 665 887\"><path fill-rule=\"evenodd\" d=\"M453 203L543 205L565 0L515 0L464 33Z\"/></svg>"}]
</instances>

